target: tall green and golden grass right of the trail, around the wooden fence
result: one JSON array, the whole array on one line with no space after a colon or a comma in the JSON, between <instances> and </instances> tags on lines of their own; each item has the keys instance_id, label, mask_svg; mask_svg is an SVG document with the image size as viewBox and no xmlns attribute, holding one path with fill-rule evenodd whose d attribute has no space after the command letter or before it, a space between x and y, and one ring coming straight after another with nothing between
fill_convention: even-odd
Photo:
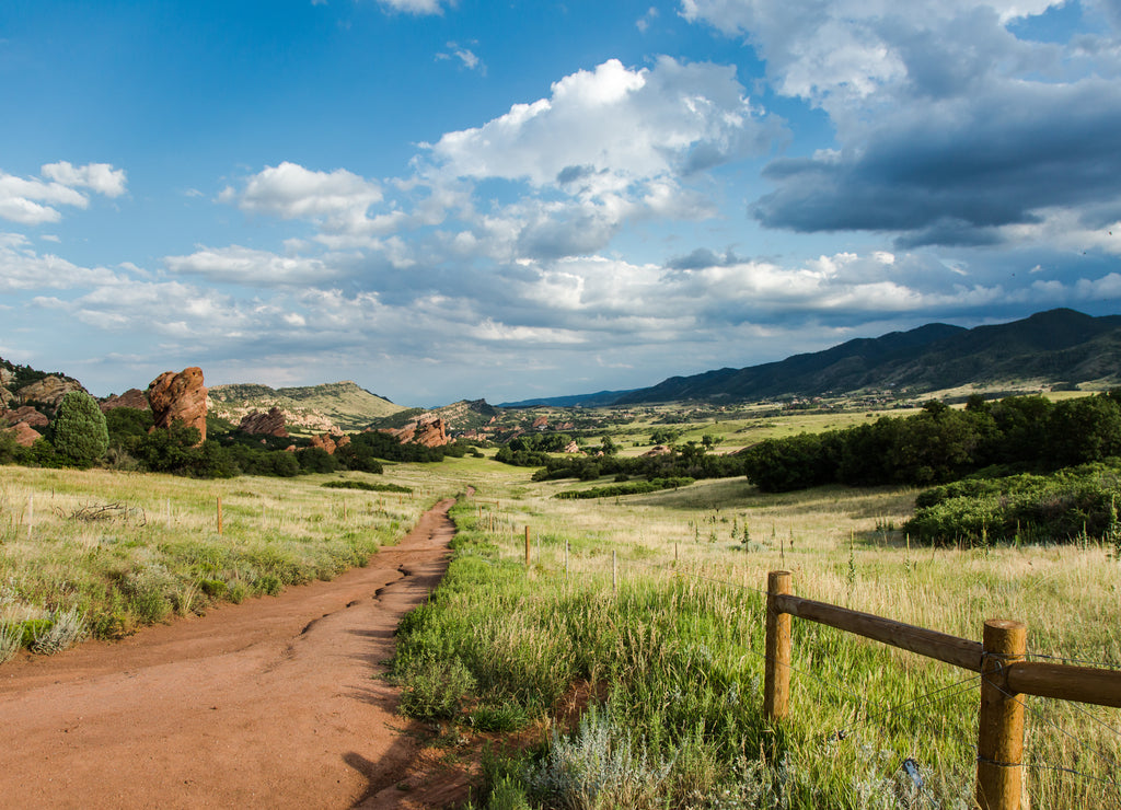
<instances>
[{"instance_id":1,"label":"tall green and golden grass right of the trail, around the wooden fence","mask_svg":"<svg viewBox=\"0 0 1121 810\"><path fill-rule=\"evenodd\" d=\"M893 529L912 508L906 490L761 496L723 481L589 504L552 499L554 484L494 483L481 494L500 509L454 511L456 559L402 627L397 662L455 661L473 685L466 724L503 706L548 724L574 681L602 685L599 725L558 729L493 772L507 804L517 793L534 807L972 807L974 673L796 620L790 719L763 721L770 569L793 570L802 595L965 637L1018 618L1032 653L1121 665L1104 547L911 549ZM752 551L736 539L744 524ZM1118 804L1115 713L1029 707L1035 806ZM595 769L629 775L617 790L589 781Z\"/></svg>"}]
</instances>

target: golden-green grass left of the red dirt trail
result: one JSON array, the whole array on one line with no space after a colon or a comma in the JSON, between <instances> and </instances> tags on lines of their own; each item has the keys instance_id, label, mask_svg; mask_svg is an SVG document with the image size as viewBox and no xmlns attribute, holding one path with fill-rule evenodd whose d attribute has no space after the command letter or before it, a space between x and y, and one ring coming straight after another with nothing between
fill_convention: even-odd
<instances>
[{"instance_id":1,"label":"golden-green grass left of the red dirt trail","mask_svg":"<svg viewBox=\"0 0 1121 810\"><path fill-rule=\"evenodd\" d=\"M415 472L404 476L419 482L411 495L321 486L361 477L0 467L0 630L54 652L331 579L396 541L437 496Z\"/></svg>"}]
</instances>

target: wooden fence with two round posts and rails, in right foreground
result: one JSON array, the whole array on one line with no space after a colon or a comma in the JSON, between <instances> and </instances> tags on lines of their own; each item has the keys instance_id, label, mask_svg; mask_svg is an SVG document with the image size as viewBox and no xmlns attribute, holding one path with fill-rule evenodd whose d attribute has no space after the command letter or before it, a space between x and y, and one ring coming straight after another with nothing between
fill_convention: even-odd
<instances>
[{"instance_id":1,"label":"wooden fence with two round posts and rails, in right foreground","mask_svg":"<svg viewBox=\"0 0 1121 810\"><path fill-rule=\"evenodd\" d=\"M1023 695L1121 707L1121 671L1026 661L1027 627L989 620L980 642L814 602L790 593L790 572L767 579L767 669L763 714L787 716L790 623L806 618L981 673L976 801L982 810L1020 810L1023 789Z\"/></svg>"}]
</instances>

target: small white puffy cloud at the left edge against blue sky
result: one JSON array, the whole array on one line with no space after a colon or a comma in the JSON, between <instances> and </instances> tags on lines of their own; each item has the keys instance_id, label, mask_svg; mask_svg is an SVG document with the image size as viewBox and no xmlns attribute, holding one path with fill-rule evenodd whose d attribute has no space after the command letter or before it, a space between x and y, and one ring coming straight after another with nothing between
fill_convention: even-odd
<instances>
[{"instance_id":1,"label":"small white puffy cloud at the left edge against blue sky","mask_svg":"<svg viewBox=\"0 0 1121 810\"><path fill-rule=\"evenodd\" d=\"M90 189L95 194L117 197L126 190L124 169L109 164L72 166L66 161L47 164L41 178L16 177L0 171L0 217L21 225L41 225L62 220L58 207L85 208Z\"/></svg>"}]
</instances>

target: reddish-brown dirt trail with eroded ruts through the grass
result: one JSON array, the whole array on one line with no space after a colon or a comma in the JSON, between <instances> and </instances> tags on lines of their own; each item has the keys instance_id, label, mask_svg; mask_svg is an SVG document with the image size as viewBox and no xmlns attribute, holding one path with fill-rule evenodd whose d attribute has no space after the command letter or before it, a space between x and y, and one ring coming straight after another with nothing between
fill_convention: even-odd
<instances>
[{"instance_id":1,"label":"reddish-brown dirt trail with eroded ruts through the grass","mask_svg":"<svg viewBox=\"0 0 1121 810\"><path fill-rule=\"evenodd\" d=\"M0 667L0 807L397 807L417 735L377 676L452 503L333 581Z\"/></svg>"}]
</instances>

